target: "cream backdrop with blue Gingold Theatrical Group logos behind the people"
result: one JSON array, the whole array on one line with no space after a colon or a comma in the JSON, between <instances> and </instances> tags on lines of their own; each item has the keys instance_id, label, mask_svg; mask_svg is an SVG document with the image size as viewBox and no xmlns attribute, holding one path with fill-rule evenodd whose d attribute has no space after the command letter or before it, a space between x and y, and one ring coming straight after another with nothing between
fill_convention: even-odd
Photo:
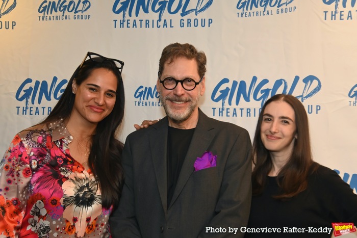
<instances>
[{"instance_id":1,"label":"cream backdrop with blue Gingold Theatrical Group logos behind the people","mask_svg":"<svg viewBox=\"0 0 357 238\"><path fill-rule=\"evenodd\" d=\"M155 85L162 49L206 52L208 116L251 137L272 95L308 112L315 161L357 189L357 4L354 0L0 1L0 152L52 110L87 51L125 62L124 141L164 117Z\"/></svg>"}]
</instances>

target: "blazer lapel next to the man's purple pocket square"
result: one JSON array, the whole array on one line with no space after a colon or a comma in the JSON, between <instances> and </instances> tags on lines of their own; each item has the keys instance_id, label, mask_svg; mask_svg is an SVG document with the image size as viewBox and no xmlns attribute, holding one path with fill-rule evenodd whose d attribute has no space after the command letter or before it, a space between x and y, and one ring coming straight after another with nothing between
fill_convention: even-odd
<instances>
[{"instance_id":1,"label":"blazer lapel next to the man's purple pocket square","mask_svg":"<svg viewBox=\"0 0 357 238\"><path fill-rule=\"evenodd\" d=\"M184 164L182 165L179 179L177 180L176 188L172 195L170 206L175 202L177 197L179 197L181 191L185 187L187 180L193 173L193 164L195 163L196 158L201 156L203 152L207 150L214 137L214 133L210 131L213 127L210 125L207 119L208 117L199 110L198 123L195 128L190 147L187 151Z\"/></svg>"}]
</instances>

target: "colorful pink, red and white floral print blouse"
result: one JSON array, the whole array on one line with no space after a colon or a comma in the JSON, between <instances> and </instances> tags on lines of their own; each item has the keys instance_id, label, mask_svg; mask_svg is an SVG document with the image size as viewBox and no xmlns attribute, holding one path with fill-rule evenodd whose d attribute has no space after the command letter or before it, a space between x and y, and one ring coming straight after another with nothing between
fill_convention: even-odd
<instances>
[{"instance_id":1,"label":"colorful pink, red and white floral print blouse","mask_svg":"<svg viewBox=\"0 0 357 238\"><path fill-rule=\"evenodd\" d=\"M0 162L0 237L111 237L91 171L62 120L25 129Z\"/></svg>"}]
</instances>

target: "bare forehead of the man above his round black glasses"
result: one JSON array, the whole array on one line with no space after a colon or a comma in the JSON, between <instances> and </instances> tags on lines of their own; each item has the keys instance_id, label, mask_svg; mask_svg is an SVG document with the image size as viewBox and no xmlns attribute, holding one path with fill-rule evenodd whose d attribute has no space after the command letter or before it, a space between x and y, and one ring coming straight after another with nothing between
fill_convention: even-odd
<instances>
[{"instance_id":1,"label":"bare forehead of the man above his round black glasses","mask_svg":"<svg viewBox=\"0 0 357 238\"><path fill-rule=\"evenodd\" d=\"M195 59L177 57L170 63L165 62L163 75L170 76L197 76L198 66Z\"/></svg>"}]
</instances>

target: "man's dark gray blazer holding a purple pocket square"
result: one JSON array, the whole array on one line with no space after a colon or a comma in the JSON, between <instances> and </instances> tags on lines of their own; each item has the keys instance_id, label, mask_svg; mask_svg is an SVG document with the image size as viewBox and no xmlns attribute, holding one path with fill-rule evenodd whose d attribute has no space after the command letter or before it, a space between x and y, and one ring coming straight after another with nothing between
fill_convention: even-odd
<instances>
[{"instance_id":1,"label":"man's dark gray blazer holding a purple pocket square","mask_svg":"<svg viewBox=\"0 0 357 238\"><path fill-rule=\"evenodd\" d=\"M240 228L248 222L251 142L247 130L209 118L199 110L169 206L167 130L165 117L126 138L122 156L125 184L119 207L110 218L112 236L243 237L229 232L228 227ZM195 172L193 164L205 151L217 155L217 166ZM227 230L210 232L207 227Z\"/></svg>"}]
</instances>

